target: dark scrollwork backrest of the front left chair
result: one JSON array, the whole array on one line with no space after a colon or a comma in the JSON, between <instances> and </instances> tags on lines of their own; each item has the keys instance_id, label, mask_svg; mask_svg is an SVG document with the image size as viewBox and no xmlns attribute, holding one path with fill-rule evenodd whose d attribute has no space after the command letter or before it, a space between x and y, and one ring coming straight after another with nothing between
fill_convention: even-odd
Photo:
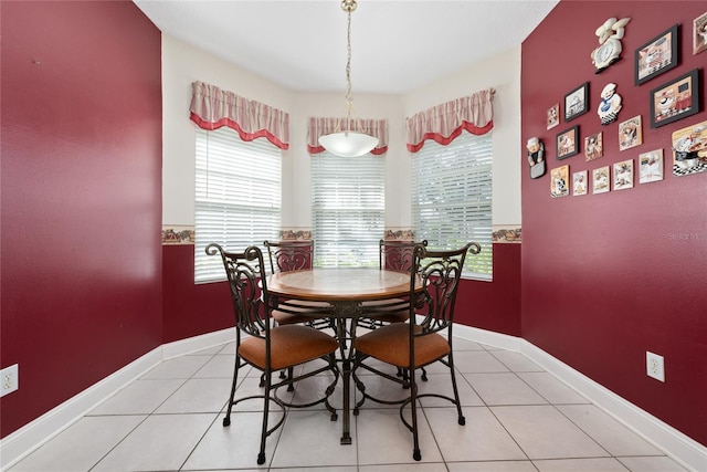
<instances>
[{"instance_id":1,"label":"dark scrollwork backrest of the front left chair","mask_svg":"<svg viewBox=\"0 0 707 472\"><path fill-rule=\"evenodd\" d=\"M207 245L207 254L217 253L221 254L231 289L239 340L241 331L266 337L270 324L265 322L268 298L263 252L254 245L243 252L228 252L217 243Z\"/></svg>"}]
</instances>

